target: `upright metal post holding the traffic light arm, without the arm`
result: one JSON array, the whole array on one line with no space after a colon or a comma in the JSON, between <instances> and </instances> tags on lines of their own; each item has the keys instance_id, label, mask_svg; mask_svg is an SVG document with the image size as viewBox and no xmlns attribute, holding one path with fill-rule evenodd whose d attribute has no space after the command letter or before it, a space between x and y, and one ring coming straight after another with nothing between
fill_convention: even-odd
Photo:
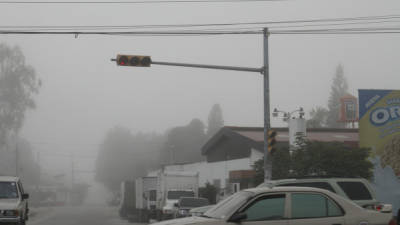
<instances>
[{"instance_id":1,"label":"upright metal post holding the traffic light arm, without the arm","mask_svg":"<svg viewBox=\"0 0 400 225\"><path fill-rule=\"evenodd\" d=\"M272 160L268 151L268 130L271 129L270 96L269 96L269 54L268 54L268 28L263 30L264 39L264 182L272 178Z\"/></svg>"}]
</instances>

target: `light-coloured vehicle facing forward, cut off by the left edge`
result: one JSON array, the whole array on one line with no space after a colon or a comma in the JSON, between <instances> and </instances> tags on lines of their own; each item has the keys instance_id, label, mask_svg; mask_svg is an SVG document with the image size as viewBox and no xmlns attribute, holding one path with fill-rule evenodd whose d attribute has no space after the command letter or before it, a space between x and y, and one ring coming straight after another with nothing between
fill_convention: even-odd
<instances>
[{"instance_id":1,"label":"light-coloured vehicle facing forward, cut off by the left edge","mask_svg":"<svg viewBox=\"0 0 400 225\"><path fill-rule=\"evenodd\" d=\"M28 198L18 177L0 176L0 223L25 225Z\"/></svg>"}]
</instances>

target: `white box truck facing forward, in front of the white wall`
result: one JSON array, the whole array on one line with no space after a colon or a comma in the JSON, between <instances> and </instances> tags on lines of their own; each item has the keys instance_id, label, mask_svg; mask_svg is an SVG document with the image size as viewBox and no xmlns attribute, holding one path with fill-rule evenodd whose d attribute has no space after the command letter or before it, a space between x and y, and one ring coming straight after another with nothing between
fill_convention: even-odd
<instances>
[{"instance_id":1,"label":"white box truck facing forward, in front of the white wall","mask_svg":"<svg viewBox=\"0 0 400 225\"><path fill-rule=\"evenodd\" d=\"M174 218L180 197L198 197L198 172L161 170L157 178L157 208L161 209L157 219Z\"/></svg>"}]
</instances>

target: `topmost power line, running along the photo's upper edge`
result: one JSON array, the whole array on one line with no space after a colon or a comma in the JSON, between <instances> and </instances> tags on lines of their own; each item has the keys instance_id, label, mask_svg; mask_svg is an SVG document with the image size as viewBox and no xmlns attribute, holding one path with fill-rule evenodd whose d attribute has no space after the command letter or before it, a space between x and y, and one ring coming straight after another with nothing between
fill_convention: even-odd
<instances>
[{"instance_id":1,"label":"topmost power line, running along the photo's upper edge","mask_svg":"<svg viewBox=\"0 0 400 225\"><path fill-rule=\"evenodd\" d=\"M247 3L288 0L147 0L147 1L0 1L0 4L166 4L166 3Z\"/></svg>"}]
</instances>

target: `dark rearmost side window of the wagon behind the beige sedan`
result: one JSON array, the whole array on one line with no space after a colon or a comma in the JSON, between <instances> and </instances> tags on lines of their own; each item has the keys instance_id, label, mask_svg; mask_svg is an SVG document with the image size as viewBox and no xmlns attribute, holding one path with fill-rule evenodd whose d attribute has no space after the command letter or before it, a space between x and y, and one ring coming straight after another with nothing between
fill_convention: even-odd
<instances>
[{"instance_id":1,"label":"dark rearmost side window of the wagon behind the beige sedan","mask_svg":"<svg viewBox=\"0 0 400 225\"><path fill-rule=\"evenodd\" d=\"M371 200L372 196L368 188L362 182L342 181L337 182L351 200Z\"/></svg>"}]
</instances>

